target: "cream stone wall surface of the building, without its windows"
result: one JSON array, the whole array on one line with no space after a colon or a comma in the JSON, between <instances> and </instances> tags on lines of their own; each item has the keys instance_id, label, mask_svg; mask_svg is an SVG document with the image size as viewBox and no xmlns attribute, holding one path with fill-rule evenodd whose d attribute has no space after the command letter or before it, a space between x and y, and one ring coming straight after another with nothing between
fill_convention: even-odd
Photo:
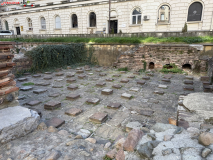
<instances>
[{"instance_id":1,"label":"cream stone wall surface of the building, without its windows","mask_svg":"<svg viewBox=\"0 0 213 160\"><path fill-rule=\"evenodd\" d=\"M38 3L44 4L46 1L39 1ZM93 2L93 1L92 1ZM203 4L202 20L199 22L187 22L188 8L193 2L201 2ZM56 3L56 2L54 2ZM76 2L77 3L77 2ZM86 3L86 2L82 2ZM87 2L89 3L89 2ZM75 4L75 3L72 3ZM62 6L59 4L58 6ZM157 23L159 8L161 5L168 5L170 7L170 23L159 24ZM140 25L132 25L132 12L134 8L140 7L142 10L142 17L144 15L150 16L150 20L142 21ZM3 15L2 22L8 21L9 29L15 31L15 27L23 26L21 34L90 34L96 31L103 31L103 28L108 30L108 4L98 4L91 6L72 7L67 9L57 9L55 6L50 10L49 7L42 7L39 12L37 8L10 11L8 13L20 12L20 14ZM188 30L211 30L212 16L213 16L213 0L133 0L112 3L111 10L115 11L117 16L113 18L118 20L118 31L123 33L137 33L137 32L177 32L181 31L185 22L188 24ZM26 13L23 13L26 12ZM89 27L89 13L96 13L96 27ZM78 28L71 28L71 15L78 16ZM61 29L55 29L55 17L59 15L61 18ZM40 18L46 19L46 30L41 30ZM27 18L31 18L33 22L33 31L28 31ZM112 19L112 20L113 20ZM15 24L15 20L18 23ZM4 23L3 29L4 29ZM15 31L16 33L16 31Z\"/></svg>"}]
</instances>

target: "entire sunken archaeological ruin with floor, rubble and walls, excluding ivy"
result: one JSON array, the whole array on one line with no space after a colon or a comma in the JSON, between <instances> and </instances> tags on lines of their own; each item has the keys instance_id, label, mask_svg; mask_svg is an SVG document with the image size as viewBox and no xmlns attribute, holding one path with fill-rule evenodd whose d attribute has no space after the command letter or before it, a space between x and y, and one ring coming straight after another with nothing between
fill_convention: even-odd
<instances>
[{"instance_id":1,"label":"entire sunken archaeological ruin with floor, rubble and walls, excluding ivy","mask_svg":"<svg viewBox=\"0 0 213 160\"><path fill-rule=\"evenodd\" d=\"M211 44L88 44L98 65L30 72L40 45L0 42L0 160L213 159Z\"/></svg>"}]
</instances>

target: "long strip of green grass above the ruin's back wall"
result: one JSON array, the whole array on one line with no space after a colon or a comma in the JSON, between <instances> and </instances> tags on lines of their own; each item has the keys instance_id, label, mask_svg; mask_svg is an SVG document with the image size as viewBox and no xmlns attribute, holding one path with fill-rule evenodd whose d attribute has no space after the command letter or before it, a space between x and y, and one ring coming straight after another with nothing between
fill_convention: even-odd
<instances>
[{"instance_id":1,"label":"long strip of green grass above the ruin's back wall","mask_svg":"<svg viewBox=\"0 0 213 160\"><path fill-rule=\"evenodd\" d=\"M212 43L213 36L203 37L52 37L52 38L1 38L0 41L16 42L73 42L73 43L107 43L107 44L139 44L139 43Z\"/></svg>"}]
</instances>

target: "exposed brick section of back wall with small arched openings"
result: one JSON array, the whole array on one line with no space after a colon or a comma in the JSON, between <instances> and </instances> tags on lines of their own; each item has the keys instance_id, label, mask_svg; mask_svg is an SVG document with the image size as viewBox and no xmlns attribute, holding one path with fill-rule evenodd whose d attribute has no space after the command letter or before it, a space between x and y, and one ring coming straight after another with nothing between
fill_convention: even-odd
<instances>
[{"instance_id":1,"label":"exposed brick section of back wall with small arched openings","mask_svg":"<svg viewBox=\"0 0 213 160\"><path fill-rule=\"evenodd\" d=\"M199 58L201 52L190 45L145 45L135 52L121 54L115 65L118 68L139 70L144 67L162 69L164 65L175 63L179 68L185 65L195 69L199 65L200 71L205 72L207 61Z\"/></svg>"}]
</instances>

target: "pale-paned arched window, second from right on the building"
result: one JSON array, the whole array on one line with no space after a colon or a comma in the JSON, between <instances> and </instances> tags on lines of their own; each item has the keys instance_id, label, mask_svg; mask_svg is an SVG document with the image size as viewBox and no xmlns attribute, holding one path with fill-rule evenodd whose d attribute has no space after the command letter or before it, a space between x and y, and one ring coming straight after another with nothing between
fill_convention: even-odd
<instances>
[{"instance_id":1,"label":"pale-paned arched window, second from right on the building","mask_svg":"<svg viewBox=\"0 0 213 160\"><path fill-rule=\"evenodd\" d=\"M158 22L169 23L170 22L170 7L162 5L158 10Z\"/></svg>"}]
</instances>

